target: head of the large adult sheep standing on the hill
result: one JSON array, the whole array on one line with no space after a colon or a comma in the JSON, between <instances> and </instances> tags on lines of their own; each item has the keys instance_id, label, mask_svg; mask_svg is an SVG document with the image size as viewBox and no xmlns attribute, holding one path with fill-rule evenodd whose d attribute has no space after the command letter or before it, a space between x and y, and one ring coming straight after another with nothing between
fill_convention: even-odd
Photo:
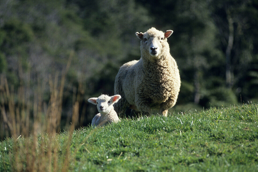
<instances>
[{"instance_id":1,"label":"head of the large adult sheep standing on the hill","mask_svg":"<svg viewBox=\"0 0 258 172\"><path fill-rule=\"evenodd\" d=\"M169 52L167 38L173 33L173 30L162 32L154 27L147 32L136 32L135 35L141 40L141 52L151 59L159 59L163 51Z\"/></svg>"}]
</instances>

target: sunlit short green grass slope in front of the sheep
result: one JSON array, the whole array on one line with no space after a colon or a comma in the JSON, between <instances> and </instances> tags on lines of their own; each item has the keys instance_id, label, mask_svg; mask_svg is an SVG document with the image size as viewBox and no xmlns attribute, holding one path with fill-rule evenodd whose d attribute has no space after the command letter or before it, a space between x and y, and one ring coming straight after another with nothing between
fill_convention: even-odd
<instances>
[{"instance_id":1,"label":"sunlit short green grass slope in front of the sheep","mask_svg":"<svg viewBox=\"0 0 258 172\"><path fill-rule=\"evenodd\" d=\"M18 162L25 170L27 162L19 160L25 155L33 157L36 167L52 157L45 166L58 171L258 171L257 104L123 119L51 138L0 142L0 171L16 170ZM35 152L20 150L30 144Z\"/></svg>"}]
</instances>

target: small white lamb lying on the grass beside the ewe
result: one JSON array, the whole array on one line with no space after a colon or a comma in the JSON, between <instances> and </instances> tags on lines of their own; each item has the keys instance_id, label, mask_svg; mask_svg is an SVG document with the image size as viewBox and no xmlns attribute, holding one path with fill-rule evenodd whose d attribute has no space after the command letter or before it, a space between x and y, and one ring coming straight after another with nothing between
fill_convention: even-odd
<instances>
[{"instance_id":1,"label":"small white lamb lying on the grass beside the ewe","mask_svg":"<svg viewBox=\"0 0 258 172\"><path fill-rule=\"evenodd\" d=\"M121 98L120 95L109 97L108 95L100 95L98 98L88 99L88 102L97 105L99 113L92 119L92 127L106 125L112 122L119 122L120 119L114 110L113 104Z\"/></svg>"}]
</instances>

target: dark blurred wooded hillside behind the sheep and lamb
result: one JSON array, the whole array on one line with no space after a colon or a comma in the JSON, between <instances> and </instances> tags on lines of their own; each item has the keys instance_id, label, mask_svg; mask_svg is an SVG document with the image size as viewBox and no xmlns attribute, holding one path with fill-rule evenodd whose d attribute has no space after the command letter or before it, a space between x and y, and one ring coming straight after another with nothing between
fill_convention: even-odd
<instances>
[{"instance_id":1,"label":"dark blurred wooded hillside behind the sheep and lamb","mask_svg":"<svg viewBox=\"0 0 258 172\"><path fill-rule=\"evenodd\" d=\"M168 43L182 83L170 112L258 101L257 0L1 0L0 73L13 92L22 85L28 99L38 92L47 105L49 81L71 57L61 130L74 99L77 127L87 126L97 113L87 99L114 95L119 67L140 58L135 32L151 27L174 31Z\"/></svg>"}]
</instances>

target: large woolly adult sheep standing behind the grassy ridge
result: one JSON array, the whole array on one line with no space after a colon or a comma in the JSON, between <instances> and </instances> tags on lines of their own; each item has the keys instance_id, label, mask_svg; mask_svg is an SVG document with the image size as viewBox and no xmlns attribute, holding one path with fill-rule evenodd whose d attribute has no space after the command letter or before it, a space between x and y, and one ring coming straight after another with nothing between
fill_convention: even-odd
<instances>
[{"instance_id":1,"label":"large woolly adult sheep standing behind the grassy ridge","mask_svg":"<svg viewBox=\"0 0 258 172\"><path fill-rule=\"evenodd\" d=\"M115 94L122 97L114 105L117 113L125 114L129 107L143 115L157 109L167 116L168 109L175 105L181 81L167 43L172 33L154 27L145 33L135 33L141 40L141 58L125 63L116 75Z\"/></svg>"}]
</instances>

